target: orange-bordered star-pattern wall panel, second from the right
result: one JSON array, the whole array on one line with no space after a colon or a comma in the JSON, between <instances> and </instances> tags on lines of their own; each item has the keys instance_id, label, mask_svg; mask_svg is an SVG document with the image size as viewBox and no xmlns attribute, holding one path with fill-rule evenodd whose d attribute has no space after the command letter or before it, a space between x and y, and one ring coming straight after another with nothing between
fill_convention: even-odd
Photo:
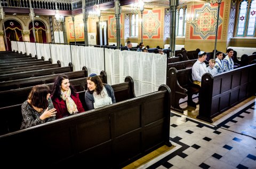
<instances>
[{"instance_id":1,"label":"orange-bordered star-pattern wall panel, second from the right","mask_svg":"<svg viewBox=\"0 0 256 169\"><path fill-rule=\"evenodd\" d=\"M160 38L161 10L146 11L143 13L143 38Z\"/></svg>"}]
</instances>

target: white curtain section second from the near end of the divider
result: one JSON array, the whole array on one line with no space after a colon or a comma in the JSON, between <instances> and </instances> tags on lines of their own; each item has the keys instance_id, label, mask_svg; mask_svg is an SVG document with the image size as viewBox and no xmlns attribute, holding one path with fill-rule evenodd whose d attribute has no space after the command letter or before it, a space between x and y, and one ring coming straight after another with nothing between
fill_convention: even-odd
<instances>
[{"instance_id":1,"label":"white curtain section second from the near end of the divider","mask_svg":"<svg viewBox=\"0 0 256 169\"><path fill-rule=\"evenodd\" d=\"M88 69L88 74L100 74L104 70L104 49L99 47L71 45L74 71Z\"/></svg>"}]
</instances>

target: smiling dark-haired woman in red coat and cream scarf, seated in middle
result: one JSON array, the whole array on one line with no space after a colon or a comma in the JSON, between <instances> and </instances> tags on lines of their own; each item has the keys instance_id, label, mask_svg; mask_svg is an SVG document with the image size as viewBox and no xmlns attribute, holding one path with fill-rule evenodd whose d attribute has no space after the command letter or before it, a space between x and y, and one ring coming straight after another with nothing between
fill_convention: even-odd
<instances>
[{"instance_id":1,"label":"smiling dark-haired woman in red coat and cream scarf, seated in middle","mask_svg":"<svg viewBox=\"0 0 256 169\"><path fill-rule=\"evenodd\" d=\"M57 111L56 119L84 112L79 95L76 93L75 88L70 85L66 75L56 77L51 98Z\"/></svg>"}]
</instances>

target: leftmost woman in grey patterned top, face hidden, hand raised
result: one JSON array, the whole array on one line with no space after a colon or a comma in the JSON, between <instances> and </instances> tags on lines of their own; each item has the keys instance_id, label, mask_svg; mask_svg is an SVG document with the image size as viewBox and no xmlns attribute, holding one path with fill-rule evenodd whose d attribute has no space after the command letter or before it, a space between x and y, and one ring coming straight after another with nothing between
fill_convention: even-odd
<instances>
[{"instance_id":1,"label":"leftmost woman in grey patterned top, face hidden, hand raised","mask_svg":"<svg viewBox=\"0 0 256 169\"><path fill-rule=\"evenodd\" d=\"M32 88L28 100L21 105L21 129L55 120L56 109L53 107L50 92L47 85L36 85Z\"/></svg>"}]
</instances>

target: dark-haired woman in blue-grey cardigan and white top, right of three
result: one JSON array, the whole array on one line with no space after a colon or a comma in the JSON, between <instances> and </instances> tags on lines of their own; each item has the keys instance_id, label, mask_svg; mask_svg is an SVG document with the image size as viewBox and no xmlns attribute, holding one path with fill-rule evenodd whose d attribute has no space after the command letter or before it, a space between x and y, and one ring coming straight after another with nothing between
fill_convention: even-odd
<instances>
[{"instance_id":1,"label":"dark-haired woman in blue-grey cardigan and white top, right of three","mask_svg":"<svg viewBox=\"0 0 256 169\"><path fill-rule=\"evenodd\" d=\"M85 103L89 110L116 103L113 88L108 84L103 84L96 74L91 74L87 78L87 87Z\"/></svg>"}]
</instances>

